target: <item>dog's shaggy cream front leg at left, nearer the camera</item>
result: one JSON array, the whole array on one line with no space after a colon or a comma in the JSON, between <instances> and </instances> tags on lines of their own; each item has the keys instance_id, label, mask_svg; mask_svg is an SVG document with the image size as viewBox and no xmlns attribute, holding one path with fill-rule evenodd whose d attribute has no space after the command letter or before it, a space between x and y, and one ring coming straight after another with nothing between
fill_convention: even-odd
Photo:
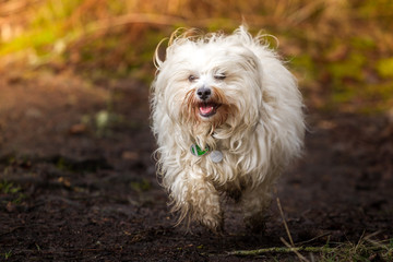
<instances>
[{"instance_id":1,"label":"dog's shaggy cream front leg at left, nearer the camera","mask_svg":"<svg viewBox=\"0 0 393 262\"><path fill-rule=\"evenodd\" d=\"M191 171L178 176L171 196L174 210L180 212L179 221L198 221L214 233L223 230L219 194L204 175Z\"/></svg>"}]
</instances>

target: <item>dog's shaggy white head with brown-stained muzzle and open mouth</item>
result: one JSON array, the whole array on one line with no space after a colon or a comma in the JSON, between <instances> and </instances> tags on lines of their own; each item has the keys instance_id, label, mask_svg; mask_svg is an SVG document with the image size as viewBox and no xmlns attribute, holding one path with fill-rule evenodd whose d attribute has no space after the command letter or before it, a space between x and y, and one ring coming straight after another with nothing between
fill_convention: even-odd
<instances>
[{"instance_id":1,"label":"dog's shaggy white head with brown-stained muzzle and open mouth","mask_svg":"<svg viewBox=\"0 0 393 262\"><path fill-rule=\"evenodd\" d=\"M175 33L176 35L176 33ZM262 104L261 64L246 43L251 35L242 27L233 35L172 36L158 69L156 100L180 123L209 127L253 126Z\"/></svg>"}]
</instances>

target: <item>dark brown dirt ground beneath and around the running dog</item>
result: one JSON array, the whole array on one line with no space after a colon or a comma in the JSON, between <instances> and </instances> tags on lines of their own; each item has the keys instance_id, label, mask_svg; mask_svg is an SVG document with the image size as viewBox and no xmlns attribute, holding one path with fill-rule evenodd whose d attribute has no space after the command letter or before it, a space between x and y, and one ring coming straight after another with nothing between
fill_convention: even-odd
<instances>
[{"instance_id":1,"label":"dark brown dirt ground beneath and around the running dog","mask_svg":"<svg viewBox=\"0 0 393 262\"><path fill-rule=\"evenodd\" d=\"M0 261L296 259L228 254L284 246L275 201L261 235L230 201L223 236L174 227L155 176L147 96L132 80L1 73ZM275 190L295 243L392 238L393 122L310 108L308 123L305 156Z\"/></svg>"}]
</instances>

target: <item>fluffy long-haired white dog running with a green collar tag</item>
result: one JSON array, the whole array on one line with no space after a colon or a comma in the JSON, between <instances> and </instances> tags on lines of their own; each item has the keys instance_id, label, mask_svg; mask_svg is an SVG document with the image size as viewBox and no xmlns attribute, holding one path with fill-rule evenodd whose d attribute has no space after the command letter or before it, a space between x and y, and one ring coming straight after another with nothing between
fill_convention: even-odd
<instances>
[{"instance_id":1,"label":"fluffy long-haired white dog running with a green collar tag","mask_svg":"<svg viewBox=\"0 0 393 262\"><path fill-rule=\"evenodd\" d=\"M245 26L231 35L178 35L165 61L155 53L153 132L158 171L179 223L223 229L221 195L239 201L260 229L274 181L301 152L297 82Z\"/></svg>"}]
</instances>

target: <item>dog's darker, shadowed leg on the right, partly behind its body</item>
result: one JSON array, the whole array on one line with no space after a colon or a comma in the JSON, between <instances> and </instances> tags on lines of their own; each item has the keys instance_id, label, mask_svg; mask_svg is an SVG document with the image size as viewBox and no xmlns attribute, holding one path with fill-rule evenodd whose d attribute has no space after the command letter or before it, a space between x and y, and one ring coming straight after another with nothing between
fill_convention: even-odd
<instances>
[{"instance_id":1,"label":"dog's darker, shadowed leg on the right, partly behind its body","mask_svg":"<svg viewBox=\"0 0 393 262\"><path fill-rule=\"evenodd\" d=\"M271 194L267 187L261 184L253 189L247 189L241 196L245 211L245 223L253 233L261 233L265 228L266 209L271 203Z\"/></svg>"}]
</instances>

